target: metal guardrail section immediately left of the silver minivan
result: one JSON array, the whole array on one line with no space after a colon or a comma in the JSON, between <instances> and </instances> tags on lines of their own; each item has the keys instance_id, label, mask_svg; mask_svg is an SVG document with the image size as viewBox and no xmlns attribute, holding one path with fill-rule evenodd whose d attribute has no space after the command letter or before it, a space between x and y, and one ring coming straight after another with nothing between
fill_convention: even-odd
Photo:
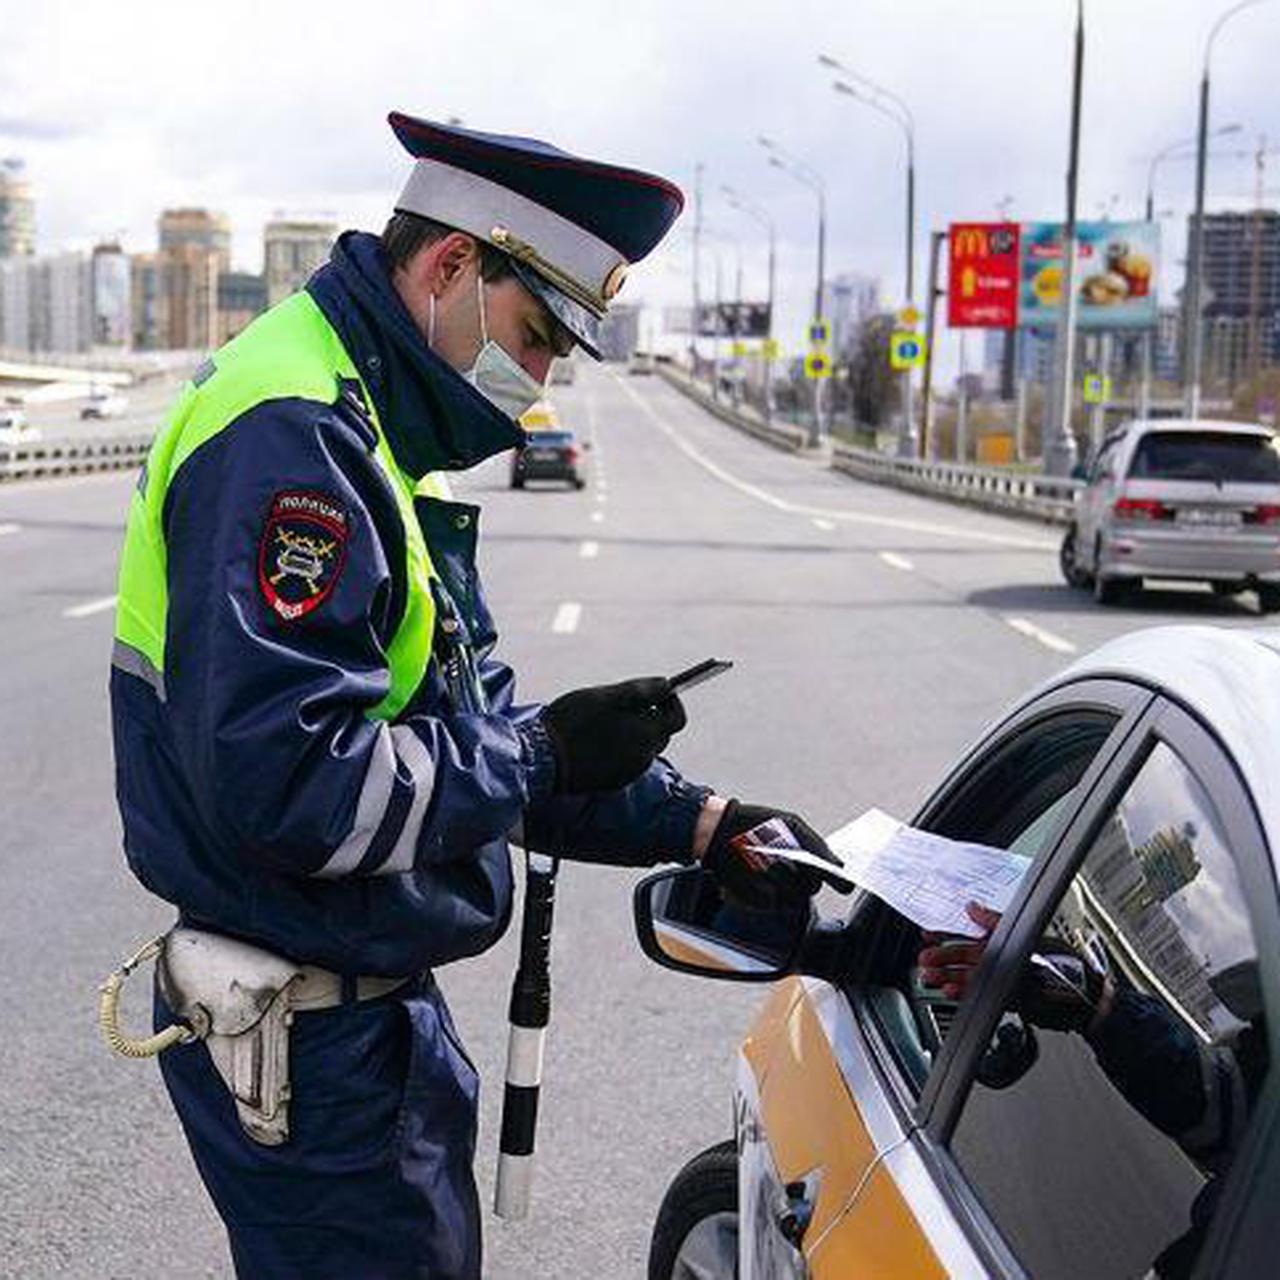
<instances>
[{"instance_id":1,"label":"metal guardrail section immediately left of the silver minivan","mask_svg":"<svg viewBox=\"0 0 1280 1280\"><path fill-rule=\"evenodd\" d=\"M1028 475L1001 467L970 467L957 462L920 462L851 444L836 444L831 465L859 480L892 484L1055 525L1070 522L1075 494L1082 488L1079 480Z\"/></svg>"}]
</instances>

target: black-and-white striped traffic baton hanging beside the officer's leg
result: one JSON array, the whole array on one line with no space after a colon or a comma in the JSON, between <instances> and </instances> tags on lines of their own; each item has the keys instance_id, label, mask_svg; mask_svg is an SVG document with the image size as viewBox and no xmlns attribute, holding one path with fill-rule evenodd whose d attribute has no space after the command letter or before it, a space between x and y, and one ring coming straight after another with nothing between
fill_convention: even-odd
<instances>
[{"instance_id":1,"label":"black-and-white striped traffic baton hanging beside the officer's leg","mask_svg":"<svg viewBox=\"0 0 1280 1280\"><path fill-rule=\"evenodd\" d=\"M511 1221L529 1213L538 1132L538 1093L543 1083L543 1043L552 1014L552 916L559 861L527 854L525 916L520 928L520 964L511 984L511 1034L507 1039L507 1083L498 1139L498 1183L494 1212Z\"/></svg>"}]
</instances>

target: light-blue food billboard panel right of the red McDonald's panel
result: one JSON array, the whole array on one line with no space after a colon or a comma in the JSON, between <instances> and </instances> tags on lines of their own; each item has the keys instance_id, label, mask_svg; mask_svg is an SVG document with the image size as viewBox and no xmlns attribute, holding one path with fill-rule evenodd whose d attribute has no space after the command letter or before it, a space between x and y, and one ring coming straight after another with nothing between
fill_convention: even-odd
<instances>
[{"instance_id":1,"label":"light-blue food billboard panel right of the red McDonald's panel","mask_svg":"<svg viewBox=\"0 0 1280 1280\"><path fill-rule=\"evenodd\" d=\"M1156 324L1160 227L1076 223L1075 287L1080 329L1148 329ZM1018 324L1052 329L1062 306L1062 224L1023 223Z\"/></svg>"}]
</instances>

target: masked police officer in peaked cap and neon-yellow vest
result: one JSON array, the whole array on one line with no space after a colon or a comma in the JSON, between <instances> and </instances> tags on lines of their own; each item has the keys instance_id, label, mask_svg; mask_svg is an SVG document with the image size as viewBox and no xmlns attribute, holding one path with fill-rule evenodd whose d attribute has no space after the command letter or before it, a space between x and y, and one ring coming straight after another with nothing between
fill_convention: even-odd
<instances>
[{"instance_id":1,"label":"masked police officer in peaked cap and neon-yellow vest","mask_svg":"<svg viewBox=\"0 0 1280 1280\"><path fill-rule=\"evenodd\" d=\"M480 1272L476 1075L431 970L508 924L506 844L703 856L742 900L815 881L733 852L777 812L659 753L662 678L521 705L440 474L517 445L553 356L596 356L669 182L393 114L381 239L195 374L129 511L113 655L129 865L173 902L165 1084L238 1274ZM787 817L797 837L820 840Z\"/></svg>"}]
</instances>

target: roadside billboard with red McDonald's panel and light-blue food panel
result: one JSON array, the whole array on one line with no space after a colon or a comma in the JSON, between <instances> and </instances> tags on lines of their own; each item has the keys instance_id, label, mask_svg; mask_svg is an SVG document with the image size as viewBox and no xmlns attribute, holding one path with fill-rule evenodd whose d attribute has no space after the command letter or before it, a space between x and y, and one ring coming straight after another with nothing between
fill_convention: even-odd
<instances>
[{"instance_id":1,"label":"roadside billboard with red McDonald's panel and light-blue food panel","mask_svg":"<svg viewBox=\"0 0 1280 1280\"><path fill-rule=\"evenodd\" d=\"M1080 329L1156 324L1160 227L1076 223ZM947 323L954 329L1052 329L1062 306L1061 223L952 223Z\"/></svg>"}]
</instances>

